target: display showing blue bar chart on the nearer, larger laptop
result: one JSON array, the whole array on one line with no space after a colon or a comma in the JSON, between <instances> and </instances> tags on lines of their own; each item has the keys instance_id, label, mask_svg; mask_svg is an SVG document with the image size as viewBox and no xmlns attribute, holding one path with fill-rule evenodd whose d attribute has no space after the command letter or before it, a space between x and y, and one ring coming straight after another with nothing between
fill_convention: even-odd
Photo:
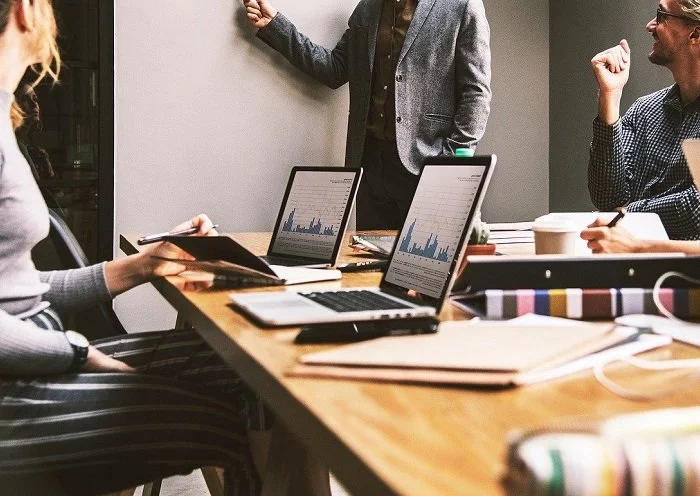
<instances>
[{"instance_id":1,"label":"display showing blue bar chart on the nearer, larger laptop","mask_svg":"<svg viewBox=\"0 0 700 496\"><path fill-rule=\"evenodd\" d=\"M440 298L486 167L426 167L384 278Z\"/></svg>"}]
</instances>

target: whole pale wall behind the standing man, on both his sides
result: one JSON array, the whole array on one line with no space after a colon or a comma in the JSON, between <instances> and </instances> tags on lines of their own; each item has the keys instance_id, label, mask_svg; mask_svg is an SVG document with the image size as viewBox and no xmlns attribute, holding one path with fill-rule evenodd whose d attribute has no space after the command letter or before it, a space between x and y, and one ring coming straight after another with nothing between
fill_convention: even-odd
<instances>
[{"instance_id":1,"label":"whole pale wall behind the standing man, on both his sides","mask_svg":"<svg viewBox=\"0 0 700 496\"><path fill-rule=\"evenodd\" d=\"M276 0L332 47L357 0ZM485 0L494 101L480 152L499 155L486 220L547 211L548 11ZM332 91L254 38L241 0L119 0L115 231L161 231L207 212L223 231L269 230L289 168L343 163L347 87ZM130 330L174 313L146 286L117 299Z\"/></svg>"}]
</instances>

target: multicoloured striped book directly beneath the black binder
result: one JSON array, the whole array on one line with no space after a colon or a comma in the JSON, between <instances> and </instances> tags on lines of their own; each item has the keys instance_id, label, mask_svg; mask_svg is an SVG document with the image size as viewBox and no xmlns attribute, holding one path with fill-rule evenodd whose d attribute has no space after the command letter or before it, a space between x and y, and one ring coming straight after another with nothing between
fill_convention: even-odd
<instances>
[{"instance_id":1,"label":"multicoloured striped book directly beneath the black binder","mask_svg":"<svg viewBox=\"0 0 700 496\"><path fill-rule=\"evenodd\" d=\"M679 318L700 316L700 289L662 288L661 304ZM488 289L456 295L453 304L489 319L534 313L570 319L610 319L621 315L658 314L653 289Z\"/></svg>"}]
</instances>

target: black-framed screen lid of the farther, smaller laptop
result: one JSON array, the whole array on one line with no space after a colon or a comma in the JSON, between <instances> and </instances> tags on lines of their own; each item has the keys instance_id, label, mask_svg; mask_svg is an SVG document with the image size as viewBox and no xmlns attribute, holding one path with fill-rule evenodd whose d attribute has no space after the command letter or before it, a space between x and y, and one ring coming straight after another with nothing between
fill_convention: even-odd
<instances>
[{"instance_id":1,"label":"black-framed screen lid of the farther, smaller laptop","mask_svg":"<svg viewBox=\"0 0 700 496\"><path fill-rule=\"evenodd\" d=\"M360 168L294 167L261 258L285 267L335 265L361 178Z\"/></svg>"}]
</instances>

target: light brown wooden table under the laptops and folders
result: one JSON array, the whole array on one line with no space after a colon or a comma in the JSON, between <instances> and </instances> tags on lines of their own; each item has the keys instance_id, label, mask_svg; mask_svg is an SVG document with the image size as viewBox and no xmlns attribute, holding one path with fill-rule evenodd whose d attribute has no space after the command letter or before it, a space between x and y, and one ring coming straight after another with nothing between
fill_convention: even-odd
<instances>
[{"instance_id":1,"label":"light brown wooden table under the laptops and folders","mask_svg":"<svg viewBox=\"0 0 700 496\"><path fill-rule=\"evenodd\" d=\"M122 236L121 249L133 253L136 237ZM266 233L235 237L257 253L264 253L269 241ZM343 261L358 258L349 249L342 255ZM351 273L343 277L342 285L376 285L379 280L379 273ZM356 495L501 494L506 436L511 429L567 416L600 417L700 404L697 382L663 400L640 403L609 393L590 373L510 390L286 377L285 370L297 357L328 346L292 344L298 329L261 329L229 305L230 289L197 290L182 277L154 285L263 396L278 421L327 462ZM464 315L448 304L441 318ZM700 356L696 348L681 344L653 353ZM645 385L647 390L677 379L673 374L614 366L610 375L628 386Z\"/></svg>"}]
</instances>

